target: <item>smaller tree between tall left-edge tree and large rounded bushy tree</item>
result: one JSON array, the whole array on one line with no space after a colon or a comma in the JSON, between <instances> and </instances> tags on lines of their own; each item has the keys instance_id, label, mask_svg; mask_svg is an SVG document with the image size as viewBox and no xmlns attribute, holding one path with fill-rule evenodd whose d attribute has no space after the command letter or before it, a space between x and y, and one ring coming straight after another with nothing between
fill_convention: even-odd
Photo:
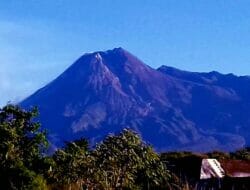
<instances>
[{"instance_id":1,"label":"smaller tree between tall left-edge tree and large rounded bushy tree","mask_svg":"<svg viewBox=\"0 0 250 190\"><path fill-rule=\"evenodd\" d=\"M83 184L92 182L93 158L86 139L66 142L63 149L55 152L53 160L53 180L56 184L71 186L78 183L81 188Z\"/></svg>"}]
</instances>

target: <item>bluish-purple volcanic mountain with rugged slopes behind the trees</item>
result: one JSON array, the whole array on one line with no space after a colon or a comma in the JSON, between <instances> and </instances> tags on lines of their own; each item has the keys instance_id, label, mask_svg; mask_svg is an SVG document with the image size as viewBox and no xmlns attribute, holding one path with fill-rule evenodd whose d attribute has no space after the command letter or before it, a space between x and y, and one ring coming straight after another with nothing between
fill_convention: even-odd
<instances>
[{"instance_id":1,"label":"bluish-purple volcanic mountain with rugged slopes behind the trees","mask_svg":"<svg viewBox=\"0 0 250 190\"><path fill-rule=\"evenodd\" d=\"M21 106L39 107L41 123L59 146L81 136L95 143L124 127L159 151L250 144L248 79L240 88L238 77L224 84L231 76L218 74L223 80L211 82L209 74L170 70L152 69L122 48L84 54Z\"/></svg>"}]
</instances>

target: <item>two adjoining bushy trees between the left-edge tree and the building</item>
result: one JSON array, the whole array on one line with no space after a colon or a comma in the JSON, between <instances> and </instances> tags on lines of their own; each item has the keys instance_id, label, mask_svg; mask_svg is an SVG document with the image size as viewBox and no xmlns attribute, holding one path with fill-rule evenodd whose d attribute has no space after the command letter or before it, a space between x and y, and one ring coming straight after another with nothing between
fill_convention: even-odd
<instances>
[{"instance_id":1,"label":"two adjoining bushy trees between the left-edge tree and the building","mask_svg":"<svg viewBox=\"0 0 250 190\"><path fill-rule=\"evenodd\" d=\"M84 139L66 143L53 155L54 184L95 189L146 189L166 186L168 171L140 137L123 130L90 151ZM53 187L56 187L55 185Z\"/></svg>"}]
</instances>

